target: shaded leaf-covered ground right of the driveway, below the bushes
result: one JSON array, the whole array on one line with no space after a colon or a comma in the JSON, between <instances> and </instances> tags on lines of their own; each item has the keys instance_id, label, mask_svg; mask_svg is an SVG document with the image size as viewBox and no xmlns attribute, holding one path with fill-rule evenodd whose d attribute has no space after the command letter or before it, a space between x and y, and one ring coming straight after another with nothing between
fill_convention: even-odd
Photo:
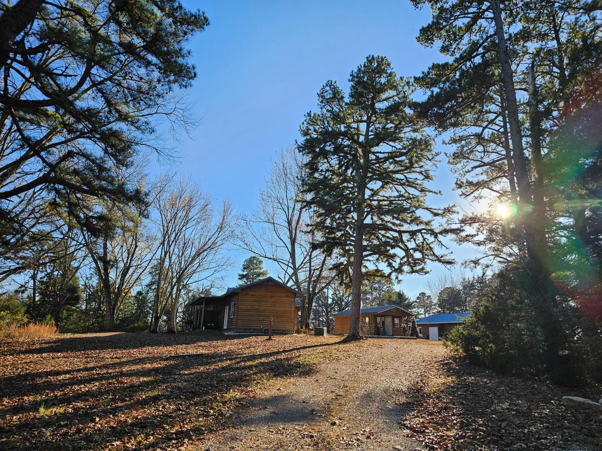
<instances>
[{"instance_id":1,"label":"shaded leaf-covered ground right of the driveway, below the bushes","mask_svg":"<svg viewBox=\"0 0 602 451\"><path fill-rule=\"evenodd\" d=\"M566 410L566 394L445 358L406 392L400 425L433 449L599 449L598 415Z\"/></svg>"}]
</instances>

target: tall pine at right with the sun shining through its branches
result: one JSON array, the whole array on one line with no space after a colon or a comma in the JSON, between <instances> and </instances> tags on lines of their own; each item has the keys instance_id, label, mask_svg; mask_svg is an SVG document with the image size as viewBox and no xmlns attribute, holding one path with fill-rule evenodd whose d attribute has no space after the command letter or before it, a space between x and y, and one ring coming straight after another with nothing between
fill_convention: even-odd
<instances>
[{"instance_id":1,"label":"tall pine at right with the sun shining through its branches","mask_svg":"<svg viewBox=\"0 0 602 451\"><path fill-rule=\"evenodd\" d=\"M429 92L420 111L438 131L453 132L449 142L456 151L450 162L463 194L476 198L484 190L513 204L503 220L465 216L471 227L462 239L486 248L474 263L494 259L529 274L521 281L523 299L529 299L524 308L526 314L535 313L545 366L557 379L559 367L574 367L562 361L571 356L566 349L576 340L559 320L566 304L556 283L575 272L575 257L568 257L576 242L570 238L576 233L573 225L593 218L595 207L585 207L586 213L563 206L566 197L546 183L545 165L554 159L550 137L565 119L562 112L574 88L599 70L600 11L580 0L412 2L433 11L418 41L428 47L440 43L442 54L451 59L433 64L418 81ZM571 161L573 167L583 164L573 152ZM570 186L566 179L561 184ZM554 255L554 248L564 248L568 258ZM571 269L565 271L558 262Z\"/></svg>"}]
</instances>

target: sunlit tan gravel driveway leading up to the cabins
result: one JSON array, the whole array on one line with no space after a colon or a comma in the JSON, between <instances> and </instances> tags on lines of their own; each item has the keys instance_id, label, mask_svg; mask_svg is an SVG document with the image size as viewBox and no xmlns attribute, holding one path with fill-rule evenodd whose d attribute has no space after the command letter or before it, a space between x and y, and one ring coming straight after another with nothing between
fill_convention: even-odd
<instances>
[{"instance_id":1,"label":"sunlit tan gravel driveway leading up to the cabins","mask_svg":"<svg viewBox=\"0 0 602 451\"><path fill-rule=\"evenodd\" d=\"M405 393L424 365L447 353L436 342L371 341L363 354L320 363L311 376L270 382L197 449L423 449L399 425Z\"/></svg>"}]
</instances>

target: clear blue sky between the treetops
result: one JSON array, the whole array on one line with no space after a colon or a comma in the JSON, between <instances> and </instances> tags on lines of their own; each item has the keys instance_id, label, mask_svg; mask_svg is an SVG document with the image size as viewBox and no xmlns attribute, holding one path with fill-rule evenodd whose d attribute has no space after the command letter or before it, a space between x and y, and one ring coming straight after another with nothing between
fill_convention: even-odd
<instances>
[{"instance_id":1,"label":"clear blue sky between the treetops","mask_svg":"<svg viewBox=\"0 0 602 451\"><path fill-rule=\"evenodd\" d=\"M204 10L211 25L190 44L198 76L188 100L202 120L190 139L181 137L177 169L192 174L218 199L232 200L238 213L253 210L270 159L299 138L303 115L315 110L316 94L328 79L346 88L349 73L370 54L388 57L402 76L418 75L444 59L416 41L430 19L428 8L414 10L405 1L184 4ZM444 192L436 203L458 201L444 161L433 186ZM452 250L458 260L471 255L455 245ZM234 250L231 256L229 286L237 283L247 257ZM415 296L429 278L447 272L433 265L432 274L405 277L401 287Z\"/></svg>"}]
</instances>

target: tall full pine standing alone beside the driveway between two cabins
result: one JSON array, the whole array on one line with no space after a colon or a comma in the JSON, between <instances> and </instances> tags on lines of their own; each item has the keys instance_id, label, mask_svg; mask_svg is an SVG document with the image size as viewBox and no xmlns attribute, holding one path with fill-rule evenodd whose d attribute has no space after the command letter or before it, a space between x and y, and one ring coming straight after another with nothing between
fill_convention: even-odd
<instances>
[{"instance_id":1,"label":"tall full pine standing alone beside the driveway between two cabins","mask_svg":"<svg viewBox=\"0 0 602 451\"><path fill-rule=\"evenodd\" d=\"M352 286L350 337L361 335L364 275L424 274L447 232L438 218L452 212L427 205L437 153L410 110L412 86L385 57L369 56L350 75L349 95L334 81L318 93L318 112L305 116L307 203L315 208L318 248Z\"/></svg>"}]
</instances>

